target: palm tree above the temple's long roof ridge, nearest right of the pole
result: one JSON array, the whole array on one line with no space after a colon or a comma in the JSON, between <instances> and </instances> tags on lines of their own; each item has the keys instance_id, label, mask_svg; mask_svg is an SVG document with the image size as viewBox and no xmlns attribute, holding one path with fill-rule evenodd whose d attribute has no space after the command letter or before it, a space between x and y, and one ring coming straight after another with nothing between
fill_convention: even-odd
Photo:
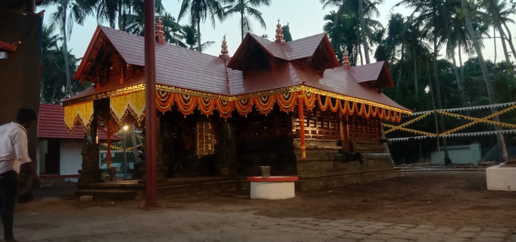
<instances>
[{"instance_id":1,"label":"palm tree above the temple's long roof ridge, nearest right of the pole","mask_svg":"<svg viewBox=\"0 0 516 242\"><path fill-rule=\"evenodd\" d=\"M216 0L183 0L179 10L178 21L185 16L186 12L190 14L190 24L197 26L197 33L199 35L197 38L197 51L201 52L201 22L206 21L209 15L212 26L215 27L215 18L219 20L224 18L222 7L220 2Z\"/></svg>"}]
</instances>

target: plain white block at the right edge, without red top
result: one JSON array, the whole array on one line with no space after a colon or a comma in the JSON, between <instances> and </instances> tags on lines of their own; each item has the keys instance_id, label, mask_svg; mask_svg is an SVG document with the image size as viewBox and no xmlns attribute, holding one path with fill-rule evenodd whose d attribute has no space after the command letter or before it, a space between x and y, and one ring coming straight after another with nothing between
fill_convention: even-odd
<instances>
[{"instance_id":1,"label":"plain white block at the right edge, without red top","mask_svg":"<svg viewBox=\"0 0 516 242\"><path fill-rule=\"evenodd\" d=\"M501 167L502 165L486 169L487 189L516 191L516 167Z\"/></svg>"}]
</instances>

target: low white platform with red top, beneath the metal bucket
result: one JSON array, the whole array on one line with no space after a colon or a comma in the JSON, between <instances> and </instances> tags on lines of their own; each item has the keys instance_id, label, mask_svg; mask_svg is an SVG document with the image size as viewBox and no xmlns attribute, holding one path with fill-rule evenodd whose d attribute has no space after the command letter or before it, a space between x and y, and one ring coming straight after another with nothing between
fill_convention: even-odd
<instances>
[{"instance_id":1,"label":"low white platform with red top, beneath the metal bucket","mask_svg":"<svg viewBox=\"0 0 516 242\"><path fill-rule=\"evenodd\" d=\"M297 176L252 176L247 178L251 182L251 199L287 199L296 196L294 182Z\"/></svg>"}]
</instances>

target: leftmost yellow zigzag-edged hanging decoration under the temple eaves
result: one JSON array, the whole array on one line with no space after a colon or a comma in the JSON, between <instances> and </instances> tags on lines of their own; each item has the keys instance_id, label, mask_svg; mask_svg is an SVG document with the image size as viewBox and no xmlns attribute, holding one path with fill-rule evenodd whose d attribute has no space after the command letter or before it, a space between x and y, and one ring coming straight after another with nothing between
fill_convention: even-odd
<instances>
[{"instance_id":1,"label":"leftmost yellow zigzag-edged hanging decoration under the temple eaves","mask_svg":"<svg viewBox=\"0 0 516 242\"><path fill-rule=\"evenodd\" d=\"M69 133L72 133L75 124L81 124L84 132L89 128L93 120L93 102L72 104L64 107L65 125Z\"/></svg>"}]
</instances>

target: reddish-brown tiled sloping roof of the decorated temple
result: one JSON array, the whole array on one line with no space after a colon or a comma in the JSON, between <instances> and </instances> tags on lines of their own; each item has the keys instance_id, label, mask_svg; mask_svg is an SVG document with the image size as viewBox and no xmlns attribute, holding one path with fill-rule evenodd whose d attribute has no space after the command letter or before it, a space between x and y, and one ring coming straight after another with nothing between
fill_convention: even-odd
<instances>
[{"instance_id":1,"label":"reddish-brown tiled sloping roof of the decorated temple","mask_svg":"<svg viewBox=\"0 0 516 242\"><path fill-rule=\"evenodd\" d=\"M94 47L94 42L100 35L105 35L109 42L115 46L122 58L129 64L144 66L144 38L141 36L127 34L125 32L99 26L95 31L88 51L83 58L80 67L84 67L89 61L89 55ZM156 44L156 84L171 87L184 88L187 90L201 91L212 94L233 96L247 93L254 93L277 89L282 87L292 87L297 85L307 85L314 88L352 96L354 98L369 100L389 106L409 110L389 99L384 94L362 87L360 82L384 78L391 80L389 71L384 62L366 64L360 67L344 68L334 67L326 69L324 73L312 70L312 68L300 67L294 59L310 57L314 55L317 47L324 44L323 48L331 49L326 34L318 34L299 40L294 40L284 44L275 43L248 34L245 40L252 39L257 42L267 53L286 61L277 62L274 70L246 70L246 73L234 70L228 66L235 60L235 57L224 59L204 53L199 53L183 47L171 44ZM238 50L246 48L244 41ZM237 50L237 52L238 52ZM330 50L333 53L333 50ZM325 56L329 56L326 52ZM336 61L332 56L332 66ZM336 62L338 66L338 62ZM75 78L80 76L77 71ZM384 80L382 80L384 82ZM131 86L144 83L144 75L126 82L123 86ZM117 82L108 82L99 90L93 88L77 94L71 99L84 98L85 96L103 93L110 90L121 88Z\"/></svg>"}]
</instances>

